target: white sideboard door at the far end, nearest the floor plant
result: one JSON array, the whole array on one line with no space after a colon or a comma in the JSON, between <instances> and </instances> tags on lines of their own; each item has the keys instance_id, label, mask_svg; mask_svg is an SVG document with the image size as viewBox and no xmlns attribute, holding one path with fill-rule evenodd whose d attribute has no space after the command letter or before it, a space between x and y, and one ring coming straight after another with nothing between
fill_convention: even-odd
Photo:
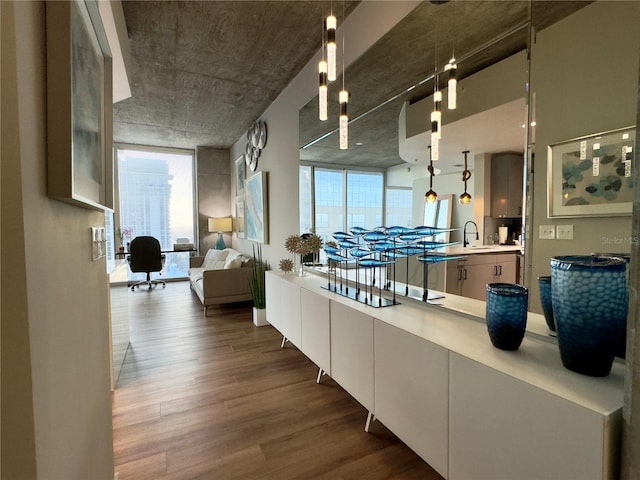
<instances>
[{"instance_id":1,"label":"white sideboard door at the far end, nearest the floor plant","mask_svg":"<svg viewBox=\"0 0 640 480\"><path fill-rule=\"evenodd\" d=\"M300 348L300 286L275 272L265 276L267 321Z\"/></svg>"}]
</instances>

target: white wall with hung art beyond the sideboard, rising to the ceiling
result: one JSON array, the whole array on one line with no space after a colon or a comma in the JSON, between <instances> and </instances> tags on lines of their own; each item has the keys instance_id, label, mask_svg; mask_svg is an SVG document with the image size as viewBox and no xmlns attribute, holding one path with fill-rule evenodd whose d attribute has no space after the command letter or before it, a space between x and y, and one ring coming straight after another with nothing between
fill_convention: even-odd
<instances>
[{"instance_id":1,"label":"white wall with hung art beyond the sideboard, rising to the ceiling","mask_svg":"<svg viewBox=\"0 0 640 480\"><path fill-rule=\"evenodd\" d=\"M348 67L367 48L384 35L399 20L413 10L417 1L364 1L338 26L337 39L348 39L345 65ZM346 32L346 33L345 33ZM267 123L267 145L262 150L257 171L269 172L269 242L263 246L263 256L277 268L281 258L291 258L284 248L287 236L299 232L298 208L298 111L317 94L317 62L319 53L283 90L274 103L261 116ZM233 161L244 152L245 139L241 137L231 150ZM254 172L247 171L247 178ZM231 187L234 195L235 185ZM234 205L235 198L231 202ZM251 242L233 237L233 246L251 253Z\"/></svg>"}]
</instances>

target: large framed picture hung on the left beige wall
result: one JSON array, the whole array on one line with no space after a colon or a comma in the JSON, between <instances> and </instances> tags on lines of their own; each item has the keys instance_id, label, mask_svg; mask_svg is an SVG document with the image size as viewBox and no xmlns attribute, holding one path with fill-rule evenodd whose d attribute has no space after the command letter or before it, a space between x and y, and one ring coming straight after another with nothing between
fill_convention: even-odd
<instances>
[{"instance_id":1,"label":"large framed picture hung on the left beige wall","mask_svg":"<svg viewBox=\"0 0 640 480\"><path fill-rule=\"evenodd\" d=\"M47 195L112 210L112 59L98 4L45 7Z\"/></svg>"}]
</instances>

